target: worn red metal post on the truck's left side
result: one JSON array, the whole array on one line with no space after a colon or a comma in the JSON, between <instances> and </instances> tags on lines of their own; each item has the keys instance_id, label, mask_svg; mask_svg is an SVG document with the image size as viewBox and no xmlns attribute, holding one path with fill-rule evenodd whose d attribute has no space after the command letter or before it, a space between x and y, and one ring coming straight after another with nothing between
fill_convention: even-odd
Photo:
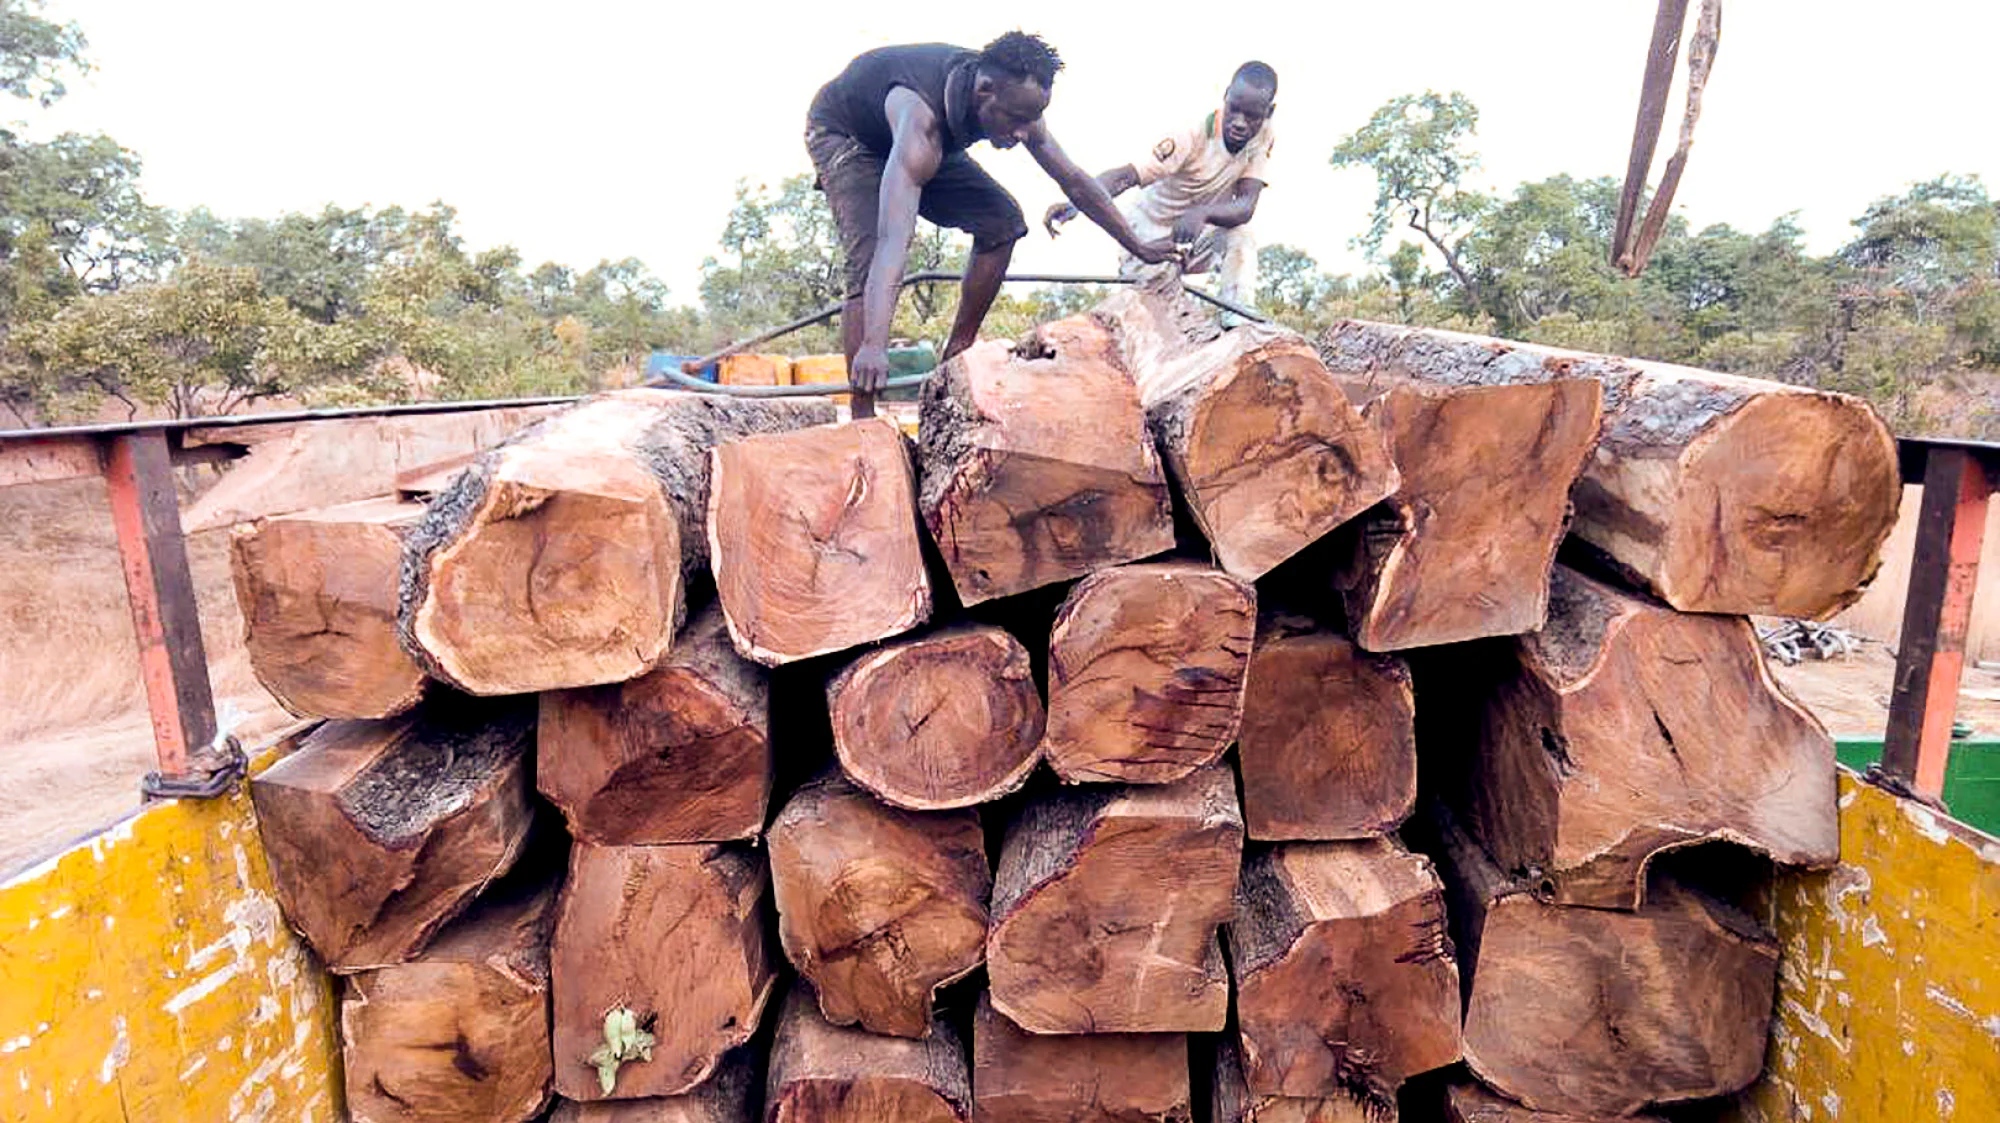
<instances>
[{"instance_id":1,"label":"worn red metal post on the truck's left side","mask_svg":"<svg viewBox=\"0 0 2000 1123\"><path fill-rule=\"evenodd\" d=\"M188 542L180 534L166 434L150 430L112 438L104 482L110 486L160 773L182 775L188 753L204 749L216 735L216 701L208 687L208 653L188 573Z\"/></svg>"}]
</instances>

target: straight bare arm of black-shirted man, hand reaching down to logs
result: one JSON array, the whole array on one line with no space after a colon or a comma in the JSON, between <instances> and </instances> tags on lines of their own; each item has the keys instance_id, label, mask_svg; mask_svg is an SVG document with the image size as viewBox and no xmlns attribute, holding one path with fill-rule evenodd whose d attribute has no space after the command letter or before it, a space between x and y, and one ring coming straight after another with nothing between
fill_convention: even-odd
<instances>
[{"instance_id":1,"label":"straight bare arm of black-shirted man, hand reaching down to logs","mask_svg":"<svg viewBox=\"0 0 2000 1123\"><path fill-rule=\"evenodd\" d=\"M856 352L850 372L856 390L880 390L888 380L888 330L896 318L902 270L910 262L916 208L924 184L938 174L938 164L944 160L938 116L922 98L898 86L888 92L886 108L894 142L882 168L876 252L868 262L868 286L862 290L862 350Z\"/></svg>"}]
</instances>

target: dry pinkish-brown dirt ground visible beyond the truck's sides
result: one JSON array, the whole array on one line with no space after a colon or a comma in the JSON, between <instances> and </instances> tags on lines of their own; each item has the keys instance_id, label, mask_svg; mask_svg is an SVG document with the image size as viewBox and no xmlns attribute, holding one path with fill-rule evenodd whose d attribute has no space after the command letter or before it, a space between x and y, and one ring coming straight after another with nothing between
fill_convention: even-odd
<instances>
[{"instance_id":1,"label":"dry pinkish-brown dirt ground visible beyond the truck's sides","mask_svg":"<svg viewBox=\"0 0 2000 1123\"><path fill-rule=\"evenodd\" d=\"M290 717L250 673L228 532L194 536L190 562L218 709L256 743ZM1878 735L1888 719L1894 657L1882 643L1774 671L1834 733ZM100 480L0 488L0 683L4 877L136 807L154 763ZM2000 735L2000 673L1966 671L1960 717Z\"/></svg>"}]
</instances>

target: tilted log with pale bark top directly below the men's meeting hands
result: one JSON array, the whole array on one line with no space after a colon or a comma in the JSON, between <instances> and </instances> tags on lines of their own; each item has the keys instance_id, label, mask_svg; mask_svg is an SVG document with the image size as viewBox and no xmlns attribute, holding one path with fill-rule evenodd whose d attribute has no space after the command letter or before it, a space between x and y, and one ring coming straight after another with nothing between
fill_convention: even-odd
<instances>
[{"instance_id":1,"label":"tilted log with pale bark top directly below the men's meeting hands","mask_svg":"<svg viewBox=\"0 0 2000 1123\"><path fill-rule=\"evenodd\" d=\"M1178 278L1160 280L1094 316L1118 340L1216 563L1254 581L1390 496L1396 464L1302 336L1264 324L1224 332Z\"/></svg>"}]
</instances>

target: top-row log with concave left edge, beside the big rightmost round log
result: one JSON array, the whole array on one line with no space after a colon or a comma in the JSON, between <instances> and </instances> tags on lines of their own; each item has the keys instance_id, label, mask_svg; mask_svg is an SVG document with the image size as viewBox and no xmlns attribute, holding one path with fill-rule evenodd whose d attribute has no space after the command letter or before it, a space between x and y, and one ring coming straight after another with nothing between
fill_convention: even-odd
<instances>
[{"instance_id":1,"label":"top-row log with concave left edge, beside the big rightmost round log","mask_svg":"<svg viewBox=\"0 0 2000 1123\"><path fill-rule=\"evenodd\" d=\"M1540 627L1570 484L1598 440L1602 388L1586 372L1488 352L1438 364L1424 346L1436 336L1348 322L1320 340L1402 468L1334 579L1370 651Z\"/></svg>"}]
</instances>

